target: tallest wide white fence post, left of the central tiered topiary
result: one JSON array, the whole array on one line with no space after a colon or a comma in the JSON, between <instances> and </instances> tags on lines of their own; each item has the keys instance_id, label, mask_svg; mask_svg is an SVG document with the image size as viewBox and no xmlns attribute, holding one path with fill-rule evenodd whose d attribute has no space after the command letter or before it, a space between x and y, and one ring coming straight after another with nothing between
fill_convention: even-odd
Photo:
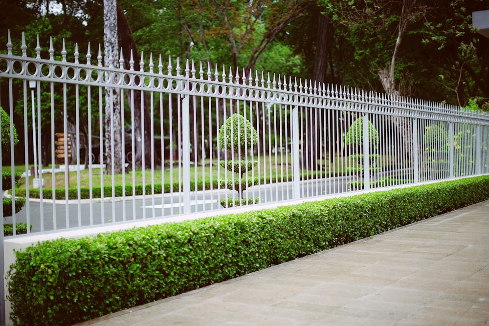
<instances>
[{"instance_id":1,"label":"tallest wide white fence post, left of the central tiered topiary","mask_svg":"<svg viewBox=\"0 0 489 326\"><path fill-rule=\"evenodd\" d=\"M182 165L183 214L190 214L190 96L188 94L183 95L182 101Z\"/></svg>"}]
</instances>

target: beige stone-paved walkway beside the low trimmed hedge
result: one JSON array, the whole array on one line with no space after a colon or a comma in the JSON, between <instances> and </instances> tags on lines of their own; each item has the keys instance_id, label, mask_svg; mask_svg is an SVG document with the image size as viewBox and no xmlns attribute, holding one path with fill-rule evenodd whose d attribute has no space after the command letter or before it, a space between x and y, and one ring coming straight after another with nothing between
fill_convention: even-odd
<instances>
[{"instance_id":1,"label":"beige stone-paved walkway beside the low trimmed hedge","mask_svg":"<svg viewBox=\"0 0 489 326\"><path fill-rule=\"evenodd\" d=\"M489 201L80 325L489 326Z\"/></svg>"}]
</instances>

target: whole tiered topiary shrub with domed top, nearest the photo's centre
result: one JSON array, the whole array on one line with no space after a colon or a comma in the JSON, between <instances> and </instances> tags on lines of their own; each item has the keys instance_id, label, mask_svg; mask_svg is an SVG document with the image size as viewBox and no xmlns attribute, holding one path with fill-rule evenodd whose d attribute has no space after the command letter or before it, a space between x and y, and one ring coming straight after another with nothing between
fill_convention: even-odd
<instances>
[{"instance_id":1,"label":"whole tiered topiary shrub with domed top, nearest the photo's centre","mask_svg":"<svg viewBox=\"0 0 489 326\"><path fill-rule=\"evenodd\" d=\"M238 198L221 199L223 207L241 206L257 203L260 198L243 198L243 192L246 188L258 184L257 177L245 177L246 172L251 171L253 167L258 165L258 161L248 161L242 159L247 151L253 150L253 147L258 143L258 133L243 115L234 113L222 125L219 130L219 145L221 148L230 152L230 160L222 160L219 163L221 166L237 177L231 179L221 179L220 185L222 188L235 190L238 192ZM235 157L237 159L235 159Z\"/></svg>"}]
</instances>

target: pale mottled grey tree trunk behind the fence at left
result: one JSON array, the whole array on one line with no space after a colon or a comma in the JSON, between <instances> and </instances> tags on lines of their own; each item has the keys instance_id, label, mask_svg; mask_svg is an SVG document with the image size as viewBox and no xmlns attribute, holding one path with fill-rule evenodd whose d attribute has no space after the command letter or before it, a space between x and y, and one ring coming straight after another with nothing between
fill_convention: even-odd
<instances>
[{"instance_id":1,"label":"pale mottled grey tree trunk behind the fence at left","mask_svg":"<svg viewBox=\"0 0 489 326\"><path fill-rule=\"evenodd\" d=\"M117 58L117 1L104 0L104 63L106 67L118 66ZM122 128L120 92L117 87L105 88L105 154L106 173L121 174Z\"/></svg>"}]
</instances>

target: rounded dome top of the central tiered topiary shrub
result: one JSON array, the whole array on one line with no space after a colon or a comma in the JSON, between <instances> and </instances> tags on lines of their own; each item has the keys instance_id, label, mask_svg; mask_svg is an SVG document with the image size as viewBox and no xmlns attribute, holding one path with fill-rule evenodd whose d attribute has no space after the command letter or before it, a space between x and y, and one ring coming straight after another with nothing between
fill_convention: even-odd
<instances>
[{"instance_id":1,"label":"rounded dome top of the central tiered topiary shrub","mask_svg":"<svg viewBox=\"0 0 489 326\"><path fill-rule=\"evenodd\" d=\"M243 115L234 113L219 129L219 145L225 151L235 153L250 151L258 143L258 133Z\"/></svg>"}]
</instances>

